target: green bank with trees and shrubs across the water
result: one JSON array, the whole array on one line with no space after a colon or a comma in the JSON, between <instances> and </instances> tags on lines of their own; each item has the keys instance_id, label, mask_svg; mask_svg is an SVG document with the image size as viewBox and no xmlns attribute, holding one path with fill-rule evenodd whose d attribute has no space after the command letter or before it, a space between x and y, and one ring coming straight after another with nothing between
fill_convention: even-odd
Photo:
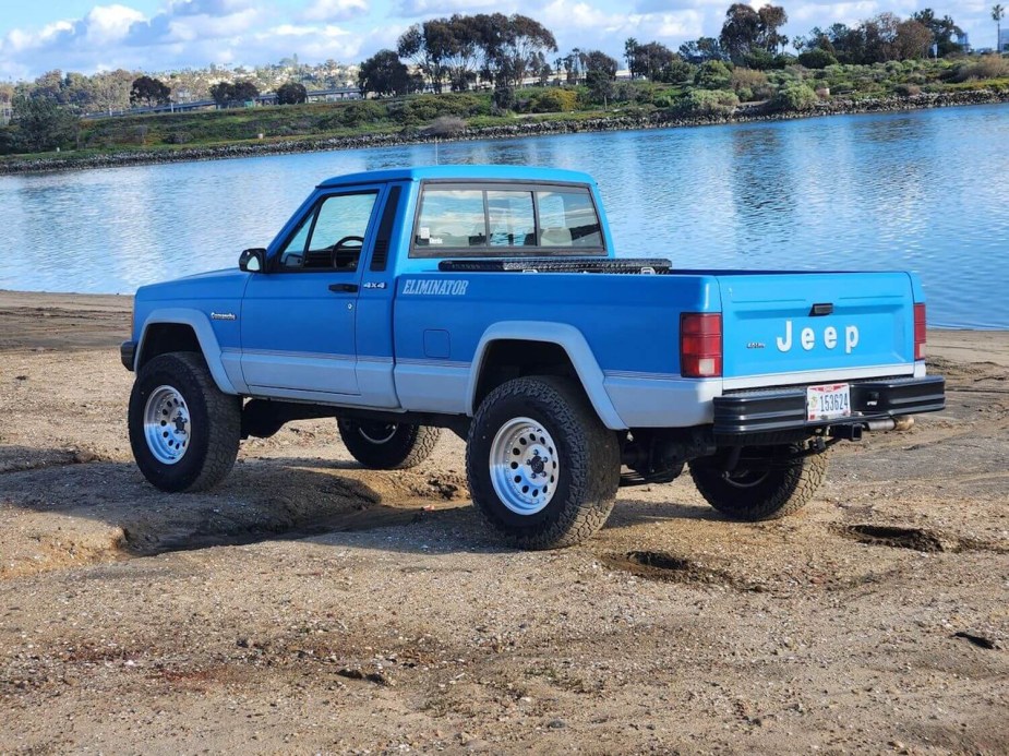
<instances>
[{"instance_id":1,"label":"green bank with trees and shrubs across the water","mask_svg":"<svg viewBox=\"0 0 1009 756\"><path fill-rule=\"evenodd\" d=\"M1002 17L992 9L999 34ZM0 82L0 173L1009 101L1004 50L972 52L930 8L794 37L788 21L783 7L733 3L717 38L677 52L627 38L623 71L601 49L560 55L553 32L518 13L418 22L396 49L349 68L292 56L169 72L168 83L53 70Z\"/></svg>"}]
</instances>

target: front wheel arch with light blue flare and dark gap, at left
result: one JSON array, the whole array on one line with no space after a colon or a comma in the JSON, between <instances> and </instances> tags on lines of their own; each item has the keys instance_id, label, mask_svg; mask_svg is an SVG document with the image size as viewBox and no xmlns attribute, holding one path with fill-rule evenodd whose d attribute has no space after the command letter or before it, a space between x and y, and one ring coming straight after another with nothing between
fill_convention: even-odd
<instances>
[{"instance_id":1,"label":"front wheel arch with light blue flare and dark gap, at left","mask_svg":"<svg viewBox=\"0 0 1009 756\"><path fill-rule=\"evenodd\" d=\"M136 370L158 355L199 351L214 383L225 394L238 394L220 360L220 345L207 316L199 310L155 310L144 320L136 347Z\"/></svg>"}]
</instances>

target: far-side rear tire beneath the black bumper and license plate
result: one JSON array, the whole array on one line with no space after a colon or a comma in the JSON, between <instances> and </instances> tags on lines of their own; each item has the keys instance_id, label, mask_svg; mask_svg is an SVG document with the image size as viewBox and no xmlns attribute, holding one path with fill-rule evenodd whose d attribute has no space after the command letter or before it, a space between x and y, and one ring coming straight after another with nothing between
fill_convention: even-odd
<instances>
[{"instance_id":1,"label":"far-side rear tire beneath the black bumper and license plate","mask_svg":"<svg viewBox=\"0 0 1009 756\"><path fill-rule=\"evenodd\" d=\"M791 444L780 451L794 454ZM766 472L735 470L728 477L708 458L690 463L690 477L705 500L730 519L756 523L798 512L827 477L827 455L802 457L783 469Z\"/></svg>"}]
</instances>

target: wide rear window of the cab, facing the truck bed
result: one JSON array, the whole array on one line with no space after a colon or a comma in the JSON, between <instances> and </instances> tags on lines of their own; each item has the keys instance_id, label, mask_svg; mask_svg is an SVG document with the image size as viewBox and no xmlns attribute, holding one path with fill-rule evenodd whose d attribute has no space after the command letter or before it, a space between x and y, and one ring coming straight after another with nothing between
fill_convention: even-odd
<instances>
[{"instance_id":1,"label":"wide rear window of the cab, facing the truck bed","mask_svg":"<svg viewBox=\"0 0 1009 756\"><path fill-rule=\"evenodd\" d=\"M427 184L411 257L605 254L585 187Z\"/></svg>"}]
</instances>

